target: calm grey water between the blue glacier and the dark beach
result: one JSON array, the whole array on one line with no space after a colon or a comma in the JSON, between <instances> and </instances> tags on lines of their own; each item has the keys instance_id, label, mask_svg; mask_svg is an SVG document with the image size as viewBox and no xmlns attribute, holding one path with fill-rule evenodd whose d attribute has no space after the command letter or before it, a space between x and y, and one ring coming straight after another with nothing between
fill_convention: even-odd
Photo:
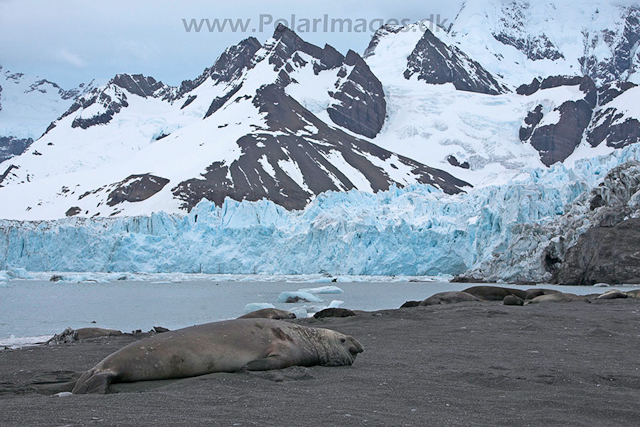
<instances>
[{"instance_id":1,"label":"calm grey water between the blue glacier and the dark beach","mask_svg":"<svg viewBox=\"0 0 640 427\"><path fill-rule=\"evenodd\" d=\"M66 327L98 326L122 331L170 329L235 318L248 303L271 303L278 308L304 304L277 303L283 291L325 286L325 283L221 282L181 283L116 281L111 283L53 283L45 280L12 280L0 287L0 345L15 338L41 337ZM354 310L398 308L407 300L422 300L444 291L471 285L447 282L333 283L344 293L319 295L326 306L332 300ZM516 286L513 286L516 287ZM547 286L565 292L604 292L592 287ZM524 288L522 288L524 289ZM95 321L96 323L92 323ZM13 336L13 339L11 337Z\"/></svg>"}]
</instances>

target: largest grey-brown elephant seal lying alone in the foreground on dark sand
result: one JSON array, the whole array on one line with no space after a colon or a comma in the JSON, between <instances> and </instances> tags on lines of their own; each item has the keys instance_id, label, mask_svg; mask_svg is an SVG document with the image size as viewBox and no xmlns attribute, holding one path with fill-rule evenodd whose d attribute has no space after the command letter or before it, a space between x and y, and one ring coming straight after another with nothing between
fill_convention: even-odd
<instances>
[{"instance_id":1,"label":"largest grey-brown elephant seal lying alone in the foreground on dark sand","mask_svg":"<svg viewBox=\"0 0 640 427\"><path fill-rule=\"evenodd\" d=\"M362 345L329 329L273 319L235 319L165 332L131 343L85 372L73 393L106 393L111 383L166 380L242 369L351 365Z\"/></svg>"}]
</instances>

